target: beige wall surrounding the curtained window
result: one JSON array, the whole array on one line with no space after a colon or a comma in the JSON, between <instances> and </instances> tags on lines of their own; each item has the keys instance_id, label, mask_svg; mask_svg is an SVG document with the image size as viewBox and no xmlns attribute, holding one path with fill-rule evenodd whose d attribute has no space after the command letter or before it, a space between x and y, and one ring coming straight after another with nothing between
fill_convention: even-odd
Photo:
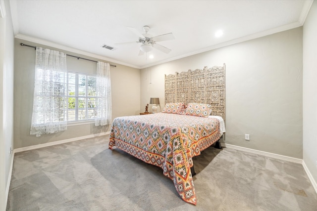
<instances>
[{"instance_id":1,"label":"beige wall surrounding the curtained window","mask_svg":"<svg viewBox=\"0 0 317 211\"><path fill-rule=\"evenodd\" d=\"M14 55L14 148L33 146L48 142L103 133L109 127L95 127L94 123L68 126L66 131L45 134L40 137L30 135L33 92L35 50L20 43L56 49L38 43L15 39ZM73 52L56 49L67 54L92 60L99 60ZM99 60L100 61L100 60ZM107 61L105 61L107 62ZM112 64L111 62L109 62ZM136 115L140 112L140 70L119 64L110 67L112 119L118 116ZM97 63L67 56L67 69L75 72L96 74Z\"/></svg>"}]
</instances>

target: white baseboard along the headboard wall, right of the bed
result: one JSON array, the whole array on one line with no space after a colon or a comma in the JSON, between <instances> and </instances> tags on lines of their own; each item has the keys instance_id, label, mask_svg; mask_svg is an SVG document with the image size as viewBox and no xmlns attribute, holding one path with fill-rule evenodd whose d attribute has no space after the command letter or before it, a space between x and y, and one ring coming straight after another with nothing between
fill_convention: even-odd
<instances>
[{"instance_id":1,"label":"white baseboard along the headboard wall, right of the bed","mask_svg":"<svg viewBox=\"0 0 317 211\"><path fill-rule=\"evenodd\" d=\"M283 161L290 161L290 162L298 163L298 164L303 163L303 160L298 159L298 158L292 158L292 157L278 155L278 154L269 153L269 152L264 152L264 151L260 151L260 150L239 147L239 146L235 146L235 145L231 145L231 144L221 143L221 145L223 145L224 147L227 147L227 148L232 148L232 149L236 149L236 150L240 150L240 151L244 151L244 152L250 152L250 153L254 153L254 154L258 154L258 155L263 155L263 156L269 157L269 158L276 158L276 159L280 159Z\"/></svg>"}]
</instances>

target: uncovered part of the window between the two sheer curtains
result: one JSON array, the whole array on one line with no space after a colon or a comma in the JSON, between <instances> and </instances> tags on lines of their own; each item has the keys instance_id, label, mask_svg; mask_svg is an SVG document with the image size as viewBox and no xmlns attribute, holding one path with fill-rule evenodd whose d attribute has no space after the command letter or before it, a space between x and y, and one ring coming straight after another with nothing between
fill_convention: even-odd
<instances>
[{"instance_id":1,"label":"uncovered part of the window between the two sheer curtains","mask_svg":"<svg viewBox=\"0 0 317 211\"><path fill-rule=\"evenodd\" d=\"M67 122L93 120L97 116L97 77L68 71Z\"/></svg>"}]
</instances>

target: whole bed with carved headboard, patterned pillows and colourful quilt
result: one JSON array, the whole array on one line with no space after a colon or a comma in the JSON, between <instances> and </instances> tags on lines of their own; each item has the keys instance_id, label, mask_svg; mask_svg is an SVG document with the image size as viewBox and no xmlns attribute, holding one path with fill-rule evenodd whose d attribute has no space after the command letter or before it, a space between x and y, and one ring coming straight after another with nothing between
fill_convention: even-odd
<instances>
[{"instance_id":1,"label":"whole bed with carved headboard, patterned pillows and colourful quilt","mask_svg":"<svg viewBox=\"0 0 317 211\"><path fill-rule=\"evenodd\" d=\"M192 158L215 142L219 146L218 140L225 132L224 86L218 83L224 83L224 74L219 72L224 73L224 66L193 72L189 70L187 76L183 73L175 73L175 77L165 75L165 106L162 112L117 117L113 120L109 137L109 149L116 147L160 167L163 174L173 180L180 197L194 205L196 194L191 171ZM210 80L212 74L208 73L216 73L212 77L222 79ZM196 76L202 74L204 76L197 80ZM187 80L187 83L182 85L178 79ZM210 88L207 82L214 87ZM186 88L184 84L189 84L189 87ZM195 88L190 87L195 84ZM200 99L198 92L210 92L210 95L205 97L201 94L204 99ZM190 96L194 96L197 102L188 102L193 100ZM177 101L179 99L185 102Z\"/></svg>"}]
</instances>

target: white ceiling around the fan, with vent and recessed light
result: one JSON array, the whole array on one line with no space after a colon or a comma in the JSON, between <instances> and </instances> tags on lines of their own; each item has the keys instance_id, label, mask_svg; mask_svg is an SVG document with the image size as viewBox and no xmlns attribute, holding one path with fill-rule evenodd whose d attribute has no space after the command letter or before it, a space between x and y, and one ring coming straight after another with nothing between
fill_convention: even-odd
<instances>
[{"instance_id":1,"label":"white ceiling around the fan, with vent and recessed light","mask_svg":"<svg viewBox=\"0 0 317 211\"><path fill-rule=\"evenodd\" d=\"M312 0L10 0L16 38L58 43L109 62L144 68L184 56L302 26ZM143 26L175 40L138 56ZM214 33L223 30L221 38ZM115 50L102 48L103 44ZM51 45L52 46L52 45ZM64 49L66 49L64 48ZM63 49L63 48L62 48ZM96 56L95 55L95 56ZM97 58L98 58L97 57Z\"/></svg>"}]
</instances>

